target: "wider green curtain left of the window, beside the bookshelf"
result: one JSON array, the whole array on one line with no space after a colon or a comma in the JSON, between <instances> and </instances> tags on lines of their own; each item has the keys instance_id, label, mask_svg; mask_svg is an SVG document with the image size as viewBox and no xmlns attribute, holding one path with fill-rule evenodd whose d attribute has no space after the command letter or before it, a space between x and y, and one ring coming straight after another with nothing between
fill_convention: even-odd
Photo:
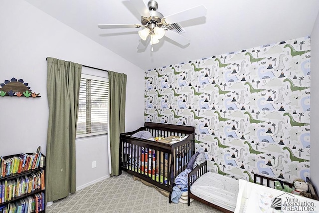
<instances>
[{"instance_id":1,"label":"wider green curtain left of the window, beside the bookshelf","mask_svg":"<svg viewBox=\"0 0 319 213\"><path fill-rule=\"evenodd\" d=\"M76 189L75 136L81 71L81 64L47 57L46 202L67 197Z\"/></svg>"}]
</instances>

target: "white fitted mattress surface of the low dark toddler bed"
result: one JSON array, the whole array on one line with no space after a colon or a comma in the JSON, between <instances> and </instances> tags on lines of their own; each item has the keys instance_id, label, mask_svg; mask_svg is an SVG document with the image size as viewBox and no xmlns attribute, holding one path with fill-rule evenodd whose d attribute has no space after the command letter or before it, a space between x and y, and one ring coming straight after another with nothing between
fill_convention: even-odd
<instances>
[{"instance_id":1,"label":"white fitted mattress surface of the low dark toddler bed","mask_svg":"<svg viewBox=\"0 0 319 213\"><path fill-rule=\"evenodd\" d=\"M190 188L193 195L232 212L238 191L238 180L212 172L199 177Z\"/></svg>"}]
</instances>

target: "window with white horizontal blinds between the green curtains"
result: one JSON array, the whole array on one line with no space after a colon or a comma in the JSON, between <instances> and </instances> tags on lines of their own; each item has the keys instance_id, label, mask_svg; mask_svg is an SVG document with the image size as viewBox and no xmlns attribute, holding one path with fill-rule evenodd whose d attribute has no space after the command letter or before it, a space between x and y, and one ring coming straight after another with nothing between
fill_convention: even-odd
<instances>
[{"instance_id":1,"label":"window with white horizontal blinds between the green curtains","mask_svg":"<svg viewBox=\"0 0 319 213\"><path fill-rule=\"evenodd\" d=\"M109 79L81 75L76 137L106 134Z\"/></svg>"}]
</instances>

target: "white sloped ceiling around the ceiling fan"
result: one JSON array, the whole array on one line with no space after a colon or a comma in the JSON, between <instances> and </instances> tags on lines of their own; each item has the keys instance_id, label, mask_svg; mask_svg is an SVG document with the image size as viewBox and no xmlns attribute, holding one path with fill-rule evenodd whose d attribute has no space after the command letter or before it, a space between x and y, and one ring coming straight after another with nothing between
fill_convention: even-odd
<instances>
[{"instance_id":1,"label":"white sloped ceiling around the ceiling fan","mask_svg":"<svg viewBox=\"0 0 319 213\"><path fill-rule=\"evenodd\" d=\"M319 0L157 0L164 16L199 4L207 14L180 22L186 31L181 35L190 44L180 46L163 37L152 52L150 45L137 49L138 28L97 27L141 23L129 0L26 1L143 70L310 35L319 11Z\"/></svg>"}]
</instances>

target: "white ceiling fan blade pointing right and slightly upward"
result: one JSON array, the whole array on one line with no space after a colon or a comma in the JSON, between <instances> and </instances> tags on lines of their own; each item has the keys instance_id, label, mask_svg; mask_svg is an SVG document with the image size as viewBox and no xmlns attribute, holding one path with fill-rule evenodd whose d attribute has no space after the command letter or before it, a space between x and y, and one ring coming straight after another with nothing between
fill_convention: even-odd
<instances>
[{"instance_id":1,"label":"white ceiling fan blade pointing right and slightly upward","mask_svg":"<svg viewBox=\"0 0 319 213\"><path fill-rule=\"evenodd\" d=\"M204 5L198 5L171 15L167 15L165 18L166 23L172 24L193 18L205 16L207 8Z\"/></svg>"}]
</instances>

